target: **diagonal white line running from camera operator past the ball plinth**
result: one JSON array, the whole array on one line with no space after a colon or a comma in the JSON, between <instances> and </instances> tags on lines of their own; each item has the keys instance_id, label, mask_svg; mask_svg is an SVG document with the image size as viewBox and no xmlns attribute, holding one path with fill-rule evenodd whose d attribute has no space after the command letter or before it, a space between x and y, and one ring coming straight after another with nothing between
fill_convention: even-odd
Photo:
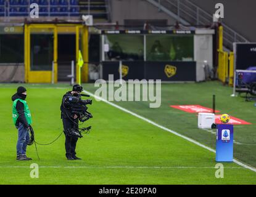
<instances>
[{"instance_id":1,"label":"diagonal white line running from camera operator past the ball plinth","mask_svg":"<svg viewBox=\"0 0 256 197\"><path fill-rule=\"evenodd\" d=\"M119 105L116 105L115 103L109 102L108 100L105 100L104 98L98 97L98 96L94 95L91 92L88 92L86 90L83 90L83 92L85 92L88 95L91 95L94 98L97 98L97 100L102 100L103 102L108 103L109 105L112 105L113 107L118 108L119 110L125 111L126 113L130 113L130 115L133 115L133 116L135 116L137 118L140 118L140 119L146 121L147 123L153 124L154 126L157 126L160 129L168 131L171 134L175 134L175 135L177 135L179 137L182 137L185 140L188 140L189 142L192 142L192 143L194 143L196 145L199 145L199 147L205 148L205 149L207 149L209 151L212 151L213 153L216 153L216 151L214 149L212 149L210 147L207 147L207 146L203 145L202 143L197 142L196 140L190 139L189 137L186 137L184 135L179 134L178 132L175 132L175 131L172 131L171 129L168 129L167 127L161 126L160 124L157 124L157 123L151 121L150 119L144 118L143 116L140 116L140 115L138 115L138 114L136 114L136 113L134 113L134 112L132 112L130 110L126 110L125 108L120 107ZM239 166L246 167L247 169L250 169L251 171L256 172L256 169L254 167L250 167L247 164L244 164L244 163L241 163L240 161L237 161L236 159L233 159L233 162L238 164Z\"/></svg>"}]
</instances>

